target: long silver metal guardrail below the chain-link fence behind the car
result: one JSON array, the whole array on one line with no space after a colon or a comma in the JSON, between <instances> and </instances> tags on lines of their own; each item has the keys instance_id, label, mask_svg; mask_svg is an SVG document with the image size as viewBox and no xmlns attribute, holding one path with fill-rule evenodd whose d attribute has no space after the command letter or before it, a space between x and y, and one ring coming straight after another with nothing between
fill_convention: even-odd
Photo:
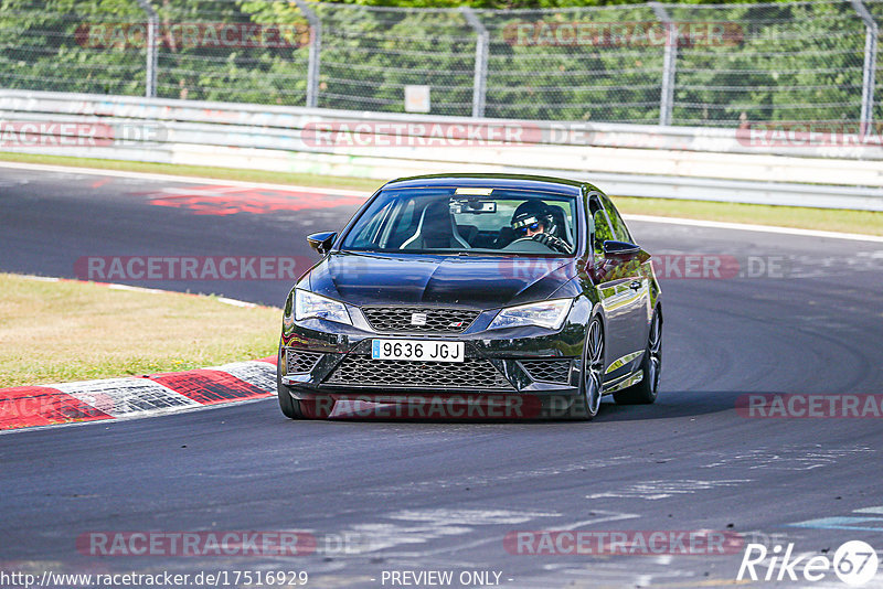
<instances>
[{"instance_id":1,"label":"long silver metal guardrail below the chain-link fence behind the car","mask_svg":"<svg viewBox=\"0 0 883 589\"><path fill-rule=\"evenodd\" d=\"M81 127L51 125L63 121ZM883 147L873 141L760 149L733 129L0 90L0 125L21 130L29 122L32 137L45 131L43 139L10 144L9 133L0 135L0 149L379 180L450 171L540 173L589 180L624 196L883 211ZM73 140L83 129L96 137ZM476 129L478 139L469 139ZM507 141L508 131L519 140ZM65 133L72 140L53 139Z\"/></svg>"}]
</instances>

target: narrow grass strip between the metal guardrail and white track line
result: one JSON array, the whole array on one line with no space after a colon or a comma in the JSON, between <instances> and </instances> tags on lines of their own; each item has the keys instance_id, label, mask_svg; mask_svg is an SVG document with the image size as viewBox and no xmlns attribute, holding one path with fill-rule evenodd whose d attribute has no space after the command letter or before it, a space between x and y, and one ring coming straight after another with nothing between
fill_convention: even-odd
<instances>
[{"instance_id":1,"label":"narrow grass strip between the metal guardrail and white track line","mask_svg":"<svg viewBox=\"0 0 883 589\"><path fill-rule=\"evenodd\" d=\"M383 183L379 180L363 178L265 172L260 170L231 170L227 168L201 165L174 165L167 163L65 158L61 156L25 153L0 152L0 160L46 163L53 165L78 165L103 170L129 170L184 176L206 176L221 180L273 182L276 184L294 184L301 186L352 189L363 190L365 192L373 192ZM716 203L710 201L683 201L678 199L637 199L628 196L615 197L615 202L624 213L641 215L883 235L883 213L871 211Z\"/></svg>"}]
</instances>

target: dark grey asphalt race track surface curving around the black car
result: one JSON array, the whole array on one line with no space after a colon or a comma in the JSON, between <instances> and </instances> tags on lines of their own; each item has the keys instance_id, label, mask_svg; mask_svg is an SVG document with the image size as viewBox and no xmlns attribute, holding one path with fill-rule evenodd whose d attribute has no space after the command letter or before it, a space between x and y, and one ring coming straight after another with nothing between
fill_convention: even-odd
<instances>
[{"instance_id":1,"label":"dark grey asphalt race track surface curving around the black car","mask_svg":"<svg viewBox=\"0 0 883 589\"><path fill-rule=\"evenodd\" d=\"M357 206L223 186L0 169L0 270L74 277L84 256L315 259L304 236L339 228ZM499 572L502 587L701 587L735 582L743 548L531 555L504 538L706 529L770 550L794 543L795 554L830 557L851 539L882 549L883 419L751 418L735 404L747 393L883 393L883 244L630 227L655 255L732 256L752 275L661 277L657 404L606 400L588 424L295 422L265 399L8 433L0 563L55 572L306 570L307 587L400 587L384 575L426 570L451 570L455 581ZM113 281L275 306L289 288ZM139 531L302 531L317 547L285 558L77 548L83 534ZM789 586L845 587L832 571ZM883 587L883 569L865 587Z\"/></svg>"}]
</instances>

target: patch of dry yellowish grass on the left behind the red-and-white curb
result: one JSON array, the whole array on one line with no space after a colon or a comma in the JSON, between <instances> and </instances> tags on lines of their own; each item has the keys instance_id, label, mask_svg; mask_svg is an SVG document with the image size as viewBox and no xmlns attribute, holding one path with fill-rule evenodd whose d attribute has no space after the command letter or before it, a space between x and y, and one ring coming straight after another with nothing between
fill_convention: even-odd
<instances>
[{"instance_id":1,"label":"patch of dry yellowish grass on the left behind the red-and-white curb","mask_svg":"<svg viewBox=\"0 0 883 589\"><path fill-rule=\"evenodd\" d=\"M216 297L0 274L0 388L201 368L276 354L281 311Z\"/></svg>"}]
</instances>

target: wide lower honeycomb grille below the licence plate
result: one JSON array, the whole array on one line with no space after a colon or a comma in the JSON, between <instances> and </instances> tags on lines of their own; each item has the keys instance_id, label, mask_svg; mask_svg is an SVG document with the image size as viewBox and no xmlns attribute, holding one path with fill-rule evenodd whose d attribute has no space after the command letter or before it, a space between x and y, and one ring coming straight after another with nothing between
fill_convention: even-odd
<instances>
[{"instance_id":1,"label":"wide lower honeycomb grille below the licence plate","mask_svg":"<svg viewBox=\"0 0 883 589\"><path fill-rule=\"evenodd\" d=\"M370 387L512 388L490 361L477 357L467 357L464 362L409 362L349 355L326 383Z\"/></svg>"}]
</instances>

